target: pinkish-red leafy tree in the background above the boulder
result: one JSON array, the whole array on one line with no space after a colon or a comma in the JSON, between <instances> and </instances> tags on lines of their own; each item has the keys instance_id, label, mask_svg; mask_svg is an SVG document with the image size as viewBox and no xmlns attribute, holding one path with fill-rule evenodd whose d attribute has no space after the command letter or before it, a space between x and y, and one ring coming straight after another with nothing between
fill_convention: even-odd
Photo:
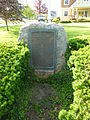
<instances>
[{"instance_id":1,"label":"pinkish-red leafy tree in the background above the boulder","mask_svg":"<svg viewBox=\"0 0 90 120\"><path fill-rule=\"evenodd\" d=\"M42 0L36 0L34 3L35 11L40 15L48 12L46 3L42 3Z\"/></svg>"}]
</instances>

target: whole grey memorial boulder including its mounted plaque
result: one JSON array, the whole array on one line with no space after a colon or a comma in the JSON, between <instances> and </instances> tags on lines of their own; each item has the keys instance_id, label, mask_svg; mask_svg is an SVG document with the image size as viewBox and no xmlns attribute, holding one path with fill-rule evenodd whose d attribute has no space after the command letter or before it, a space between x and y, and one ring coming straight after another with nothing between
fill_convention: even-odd
<instances>
[{"instance_id":1,"label":"whole grey memorial boulder including its mounted plaque","mask_svg":"<svg viewBox=\"0 0 90 120\"><path fill-rule=\"evenodd\" d=\"M23 40L31 53L30 65L39 76L59 71L65 64L67 35L64 28L54 23L31 22L21 27L18 41Z\"/></svg>"}]
</instances>

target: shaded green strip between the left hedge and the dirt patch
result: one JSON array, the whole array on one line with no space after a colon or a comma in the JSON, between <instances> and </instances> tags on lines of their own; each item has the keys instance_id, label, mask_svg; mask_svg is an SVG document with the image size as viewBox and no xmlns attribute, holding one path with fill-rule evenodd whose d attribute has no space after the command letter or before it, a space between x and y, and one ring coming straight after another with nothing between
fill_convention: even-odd
<instances>
[{"instance_id":1,"label":"shaded green strip between the left hedge and the dirt patch","mask_svg":"<svg viewBox=\"0 0 90 120\"><path fill-rule=\"evenodd\" d=\"M30 76L28 76L28 73ZM31 97L32 97L32 89L33 89L33 82L32 79L32 69L28 68L25 79L22 81L20 90L18 91L18 95L15 97L15 101L12 105L10 110L11 120L26 120L25 113L31 110ZM10 116L5 116L7 120L9 120ZM4 118L4 119L5 119Z\"/></svg>"}]
</instances>

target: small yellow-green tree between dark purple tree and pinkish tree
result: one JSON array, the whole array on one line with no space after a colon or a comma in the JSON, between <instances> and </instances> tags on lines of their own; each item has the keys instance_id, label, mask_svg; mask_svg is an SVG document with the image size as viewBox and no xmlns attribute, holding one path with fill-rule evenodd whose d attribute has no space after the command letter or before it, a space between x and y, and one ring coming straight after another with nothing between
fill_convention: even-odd
<instances>
[{"instance_id":1,"label":"small yellow-green tree between dark purple tree and pinkish tree","mask_svg":"<svg viewBox=\"0 0 90 120\"><path fill-rule=\"evenodd\" d=\"M34 11L27 5L27 6L25 6L25 8L23 9L23 15L25 16L25 17L28 17L29 19L30 18L33 18L34 16L35 16L35 13L34 13Z\"/></svg>"}]
</instances>

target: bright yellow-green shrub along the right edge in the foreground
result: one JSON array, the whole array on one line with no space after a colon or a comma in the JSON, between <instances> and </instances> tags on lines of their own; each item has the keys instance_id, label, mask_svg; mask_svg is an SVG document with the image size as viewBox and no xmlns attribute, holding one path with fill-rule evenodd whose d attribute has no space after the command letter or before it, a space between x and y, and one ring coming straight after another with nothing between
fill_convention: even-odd
<instances>
[{"instance_id":1,"label":"bright yellow-green shrub along the right edge in the foreground","mask_svg":"<svg viewBox=\"0 0 90 120\"><path fill-rule=\"evenodd\" d=\"M73 72L74 100L68 111L59 113L60 120L90 119L90 45L73 51L68 61Z\"/></svg>"}]
</instances>

